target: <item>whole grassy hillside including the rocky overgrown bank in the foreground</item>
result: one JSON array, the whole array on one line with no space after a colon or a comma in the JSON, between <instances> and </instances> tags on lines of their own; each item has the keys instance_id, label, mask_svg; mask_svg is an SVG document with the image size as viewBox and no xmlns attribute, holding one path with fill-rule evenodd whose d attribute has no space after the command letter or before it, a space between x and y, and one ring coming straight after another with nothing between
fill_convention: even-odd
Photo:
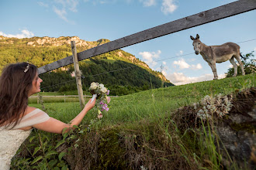
<instances>
[{"instance_id":1,"label":"whole grassy hillside including the rocky overgrown bank in the foreground","mask_svg":"<svg viewBox=\"0 0 256 170\"><path fill-rule=\"evenodd\" d=\"M254 169L255 76L112 97L102 120L95 119L97 113L92 110L74 134L33 131L17 152L12 167L30 169L32 165L37 168L48 164L70 169ZM201 121L199 110L208 107L199 103L216 96L223 97L220 104L213 103L219 105L218 112L212 113L216 119ZM44 106L47 114L64 122L81 111L78 103ZM230 111L216 117L223 108ZM223 151L223 145L227 150ZM31 153L36 151L32 158Z\"/></svg>"}]
</instances>

